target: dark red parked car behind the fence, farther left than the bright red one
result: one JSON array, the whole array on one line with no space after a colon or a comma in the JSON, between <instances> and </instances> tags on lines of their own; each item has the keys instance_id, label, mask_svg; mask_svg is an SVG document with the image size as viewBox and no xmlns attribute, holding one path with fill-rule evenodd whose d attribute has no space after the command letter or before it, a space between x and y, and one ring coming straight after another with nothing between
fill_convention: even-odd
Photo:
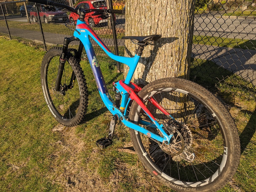
<instances>
[{"instance_id":1,"label":"dark red parked car behind the fence, farther left than the bright red one","mask_svg":"<svg viewBox=\"0 0 256 192\"><path fill-rule=\"evenodd\" d=\"M56 11L49 11L44 7L37 7L40 19L45 22L66 22L68 20L68 15L66 12L58 10L56 7L54 8ZM30 11L30 18L35 23L38 20L36 7L32 7Z\"/></svg>"}]
</instances>

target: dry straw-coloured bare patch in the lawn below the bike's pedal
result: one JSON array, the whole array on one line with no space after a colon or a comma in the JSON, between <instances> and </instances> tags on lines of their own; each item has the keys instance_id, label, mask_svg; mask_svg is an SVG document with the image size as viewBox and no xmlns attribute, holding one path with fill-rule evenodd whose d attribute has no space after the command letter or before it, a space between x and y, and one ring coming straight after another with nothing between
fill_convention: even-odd
<instances>
[{"instance_id":1,"label":"dry straw-coloured bare patch in the lawn below the bike's pedal","mask_svg":"<svg viewBox=\"0 0 256 192\"><path fill-rule=\"evenodd\" d=\"M83 163L98 158L100 149L95 147L92 148L90 154L88 150L85 152L86 144L82 140L84 135L78 135L76 127L62 128L58 125L53 130L61 134L61 140L51 144L56 150L50 156L52 164L49 170L52 171L48 173L48 179L52 184L62 186L64 192L116 192L123 191L123 185L128 185L134 191L136 189L140 191L141 186L145 191L160 191L162 185L152 179L152 175L139 161L137 164L130 165L123 160L116 159L116 169L109 178L102 178L90 167L90 163L87 165ZM121 149L120 153L134 153L132 143L127 143L123 149L128 149L128 151ZM87 157L81 158L81 154L86 154Z\"/></svg>"}]
</instances>

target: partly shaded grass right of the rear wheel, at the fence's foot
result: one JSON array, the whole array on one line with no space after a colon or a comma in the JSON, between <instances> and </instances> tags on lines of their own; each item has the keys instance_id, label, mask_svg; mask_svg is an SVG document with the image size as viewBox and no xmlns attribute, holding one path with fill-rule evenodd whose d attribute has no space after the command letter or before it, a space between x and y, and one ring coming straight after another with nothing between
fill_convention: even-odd
<instances>
[{"instance_id":1,"label":"partly shaded grass right of the rear wheel, at the fence's foot","mask_svg":"<svg viewBox=\"0 0 256 192\"><path fill-rule=\"evenodd\" d=\"M229 106L241 142L241 159L234 176L235 188L226 186L220 191L256 191L256 89L228 70L207 60L193 59L190 79L220 95ZM235 190L236 189L236 190Z\"/></svg>"}]
</instances>

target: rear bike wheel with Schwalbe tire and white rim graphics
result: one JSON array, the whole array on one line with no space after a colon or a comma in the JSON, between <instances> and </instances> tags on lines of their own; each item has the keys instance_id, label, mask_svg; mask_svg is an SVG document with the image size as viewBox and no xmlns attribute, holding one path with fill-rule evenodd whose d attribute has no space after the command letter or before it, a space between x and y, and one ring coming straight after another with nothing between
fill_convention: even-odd
<instances>
[{"instance_id":1,"label":"rear bike wheel with Schwalbe tire and white rim graphics","mask_svg":"<svg viewBox=\"0 0 256 192\"><path fill-rule=\"evenodd\" d=\"M232 117L212 93L188 80L165 78L148 84L138 95L165 131L174 132L166 145L130 129L140 160L156 179L176 191L209 192L233 177L239 164L239 136ZM129 118L161 135L135 101Z\"/></svg>"}]
</instances>

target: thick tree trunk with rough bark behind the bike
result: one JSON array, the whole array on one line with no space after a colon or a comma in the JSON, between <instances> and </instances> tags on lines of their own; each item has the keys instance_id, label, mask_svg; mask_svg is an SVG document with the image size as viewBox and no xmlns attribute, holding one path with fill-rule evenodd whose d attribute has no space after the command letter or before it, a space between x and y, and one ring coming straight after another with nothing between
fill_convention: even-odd
<instances>
[{"instance_id":1,"label":"thick tree trunk with rough bark behind the bike","mask_svg":"<svg viewBox=\"0 0 256 192\"><path fill-rule=\"evenodd\" d=\"M189 78L193 35L192 0L127 0L125 35L160 34L153 45L145 47L133 81L147 84L164 77ZM125 41L125 56L132 57L137 45ZM124 75L128 67L124 68Z\"/></svg>"}]
</instances>

